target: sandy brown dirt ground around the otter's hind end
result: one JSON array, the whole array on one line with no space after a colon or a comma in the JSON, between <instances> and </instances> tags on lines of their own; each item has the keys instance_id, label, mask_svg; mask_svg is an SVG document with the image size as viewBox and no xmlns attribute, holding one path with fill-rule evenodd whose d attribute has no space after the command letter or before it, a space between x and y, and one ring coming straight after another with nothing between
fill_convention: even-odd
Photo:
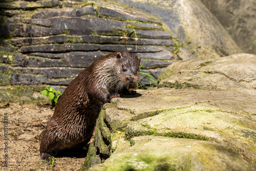
<instances>
[{"instance_id":1,"label":"sandy brown dirt ground around the otter's hind end","mask_svg":"<svg viewBox=\"0 0 256 171\"><path fill-rule=\"evenodd\" d=\"M1 159L5 170L79 170L86 154L71 154L69 157L56 157L53 166L40 159L38 136L54 110L42 108L36 104L9 103L8 108L0 109L1 115ZM7 118L8 117L8 118ZM8 125L5 125L8 119ZM6 140L4 126L8 127ZM7 148L5 142L7 141ZM6 149L8 152L6 153ZM81 153L81 152L80 152ZM5 155L8 154L8 167L5 167ZM3 169L1 169L3 170Z\"/></svg>"}]
</instances>

